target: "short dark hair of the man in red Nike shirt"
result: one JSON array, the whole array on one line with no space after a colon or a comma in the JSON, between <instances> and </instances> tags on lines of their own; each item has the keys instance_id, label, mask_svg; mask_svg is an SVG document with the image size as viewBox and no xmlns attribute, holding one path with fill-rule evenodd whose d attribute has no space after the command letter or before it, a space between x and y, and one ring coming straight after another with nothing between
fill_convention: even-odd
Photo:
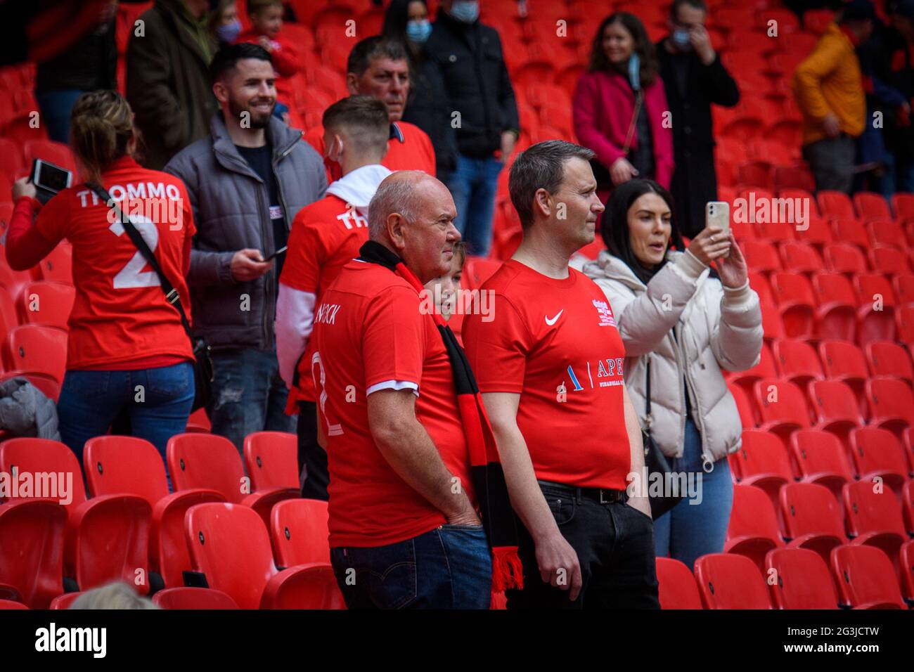
<instances>
[{"instance_id":1,"label":"short dark hair of the man in red Nike shirt","mask_svg":"<svg viewBox=\"0 0 914 672\"><path fill-rule=\"evenodd\" d=\"M554 194L565 179L565 164L575 156L590 161L595 154L587 147L565 140L531 144L517 155L508 176L508 193L521 226L533 224L533 200L537 190Z\"/></svg>"}]
</instances>

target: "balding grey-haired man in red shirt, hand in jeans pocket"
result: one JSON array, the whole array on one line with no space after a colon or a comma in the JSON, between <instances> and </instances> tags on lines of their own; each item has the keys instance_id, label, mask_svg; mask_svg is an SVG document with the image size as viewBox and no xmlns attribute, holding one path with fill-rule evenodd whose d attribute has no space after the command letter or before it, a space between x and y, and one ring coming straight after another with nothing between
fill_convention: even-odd
<instances>
[{"instance_id":1,"label":"balding grey-haired man in red shirt, hand in jeans pocket","mask_svg":"<svg viewBox=\"0 0 914 672\"><path fill-rule=\"evenodd\" d=\"M447 187L388 176L370 239L314 313L309 366L330 467L331 562L352 608L487 609L492 559L476 514L451 362L419 291L460 234Z\"/></svg>"}]
</instances>

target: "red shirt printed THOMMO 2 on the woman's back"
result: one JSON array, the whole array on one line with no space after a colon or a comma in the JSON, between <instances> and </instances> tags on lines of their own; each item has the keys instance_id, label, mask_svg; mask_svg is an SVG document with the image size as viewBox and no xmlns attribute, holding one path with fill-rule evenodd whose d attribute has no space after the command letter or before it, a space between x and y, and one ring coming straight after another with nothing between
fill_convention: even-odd
<instances>
[{"instance_id":1,"label":"red shirt printed THOMMO 2 on the woman's back","mask_svg":"<svg viewBox=\"0 0 914 672\"><path fill-rule=\"evenodd\" d=\"M189 319L184 261L197 229L184 183L125 156L101 175L101 184L116 202L126 203L125 214L181 295ZM119 365L150 357L165 357L158 360L163 366L174 363L169 356L193 357L158 276L88 187L69 187L51 198L35 227L48 241L67 239L73 246L76 300L68 323L68 369L123 368Z\"/></svg>"}]
</instances>

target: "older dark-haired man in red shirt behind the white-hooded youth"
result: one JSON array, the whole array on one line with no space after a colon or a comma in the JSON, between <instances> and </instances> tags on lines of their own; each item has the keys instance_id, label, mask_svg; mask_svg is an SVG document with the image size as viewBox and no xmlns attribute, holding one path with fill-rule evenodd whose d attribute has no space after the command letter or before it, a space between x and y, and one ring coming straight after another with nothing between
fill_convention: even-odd
<instances>
[{"instance_id":1,"label":"older dark-haired man in red shirt behind the white-hooded youth","mask_svg":"<svg viewBox=\"0 0 914 672\"><path fill-rule=\"evenodd\" d=\"M388 106L388 154L381 165L434 176L435 148L429 136L419 126L400 121L409 95L409 59L403 45L379 36L357 43L346 64L346 86L350 93L374 96ZM325 151L324 129L315 127L304 134L304 139L324 156L327 181L339 179L341 167Z\"/></svg>"}]
</instances>

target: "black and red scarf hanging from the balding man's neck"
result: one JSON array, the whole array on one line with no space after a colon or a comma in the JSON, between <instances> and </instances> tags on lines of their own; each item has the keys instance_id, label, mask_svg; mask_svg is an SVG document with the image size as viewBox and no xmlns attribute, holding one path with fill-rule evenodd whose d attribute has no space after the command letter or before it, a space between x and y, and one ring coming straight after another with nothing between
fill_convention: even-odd
<instances>
[{"instance_id":1,"label":"black and red scarf hanging from the balding man's neck","mask_svg":"<svg viewBox=\"0 0 914 672\"><path fill-rule=\"evenodd\" d=\"M419 278L409 270L406 262L374 240L368 240L362 245L359 259L378 263L390 269L419 293L425 289ZM489 416L485 412L470 362L457 342L457 337L440 314L435 312L431 317L438 327L444 349L451 360L457 404L470 453L473 486L479 502L485 536L492 549L492 590L502 592L509 588L523 588L522 566L517 556L516 518L508 498L505 473L498 459L498 449L495 446Z\"/></svg>"}]
</instances>

